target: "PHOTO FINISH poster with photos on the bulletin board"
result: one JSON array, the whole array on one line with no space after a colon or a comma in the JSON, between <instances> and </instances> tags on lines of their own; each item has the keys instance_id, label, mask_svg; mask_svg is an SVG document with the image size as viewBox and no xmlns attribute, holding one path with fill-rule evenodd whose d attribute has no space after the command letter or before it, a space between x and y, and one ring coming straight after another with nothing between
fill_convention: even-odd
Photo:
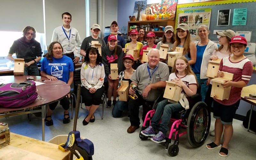
<instances>
[{"instance_id":1,"label":"PHOTO FINISH poster with photos on the bulletin board","mask_svg":"<svg viewBox=\"0 0 256 160\"><path fill-rule=\"evenodd\" d=\"M211 12L212 8L179 10L178 24L188 24L191 40L200 40L197 29L202 24L210 26Z\"/></svg>"}]
</instances>

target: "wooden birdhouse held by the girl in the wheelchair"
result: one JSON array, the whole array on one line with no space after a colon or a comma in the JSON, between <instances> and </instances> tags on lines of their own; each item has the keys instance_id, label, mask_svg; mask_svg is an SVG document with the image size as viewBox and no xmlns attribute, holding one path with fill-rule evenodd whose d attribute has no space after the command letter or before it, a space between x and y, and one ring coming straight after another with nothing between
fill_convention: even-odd
<instances>
[{"instance_id":1,"label":"wooden birdhouse held by the girl in the wheelchair","mask_svg":"<svg viewBox=\"0 0 256 160\"><path fill-rule=\"evenodd\" d=\"M166 87L164 90L164 98L169 99L171 103L177 103L180 100L180 93L182 87L175 82L166 81Z\"/></svg>"}]
</instances>

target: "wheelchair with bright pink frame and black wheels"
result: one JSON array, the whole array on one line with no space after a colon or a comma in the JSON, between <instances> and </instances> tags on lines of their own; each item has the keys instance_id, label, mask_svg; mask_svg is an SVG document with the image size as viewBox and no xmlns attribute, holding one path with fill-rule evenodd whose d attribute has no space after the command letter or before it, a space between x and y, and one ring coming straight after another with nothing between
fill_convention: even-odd
<instances>
[{"instance_id":1,"label":"wheelchair with bright pink frame and black wheels","mask_svg":"<svg viewBox=\"0 0 256 160\"><path fill-rule=\"evenodd\" d=\"M151 123L151 119L155 113L155 107L158 102L163 100L163 95L159 96L153 105L153 110L148 111L146 114L142 130L145 130ZM171 122L171 130L169 137L166 138L166 142L161 143L164 145L170 156L177 156L179 153L179 137L187 134L188 143L192 147L199 147L204 144L206 140L210 125L211 125L211 112L207 109L207 105L201 101L202 97L200 94L195 94L188 98L189 109L181 110L180 112L173 113ZM192 107L191 107L192 106ZM185 132L179 133L180 128L186 128ZM172 134L175 133L174 143L169 147L171 143ZM139 135L141 140L147 140L148 138L140 133Z\"/></svg>"}]
</instances>

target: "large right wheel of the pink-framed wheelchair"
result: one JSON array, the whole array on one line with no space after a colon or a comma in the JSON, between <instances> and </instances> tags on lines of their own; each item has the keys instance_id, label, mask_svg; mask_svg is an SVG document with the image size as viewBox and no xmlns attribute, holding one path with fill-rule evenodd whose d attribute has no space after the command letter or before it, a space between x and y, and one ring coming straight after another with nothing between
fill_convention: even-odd
<instances>
[{"instance_id":1,"label":"large right wheel of the pink-framed wheelchair","mask_svg":"<svg viewBox=\"0 0 256 160\"><path fill-rule=\"evenodd\" d=\"M208 112L207 105L204 102L197 102L193 106L188 116L187 125L188 143L192 147L202 146L208 136L211 125L211 114Z\"/></svg>"}]
</instances>

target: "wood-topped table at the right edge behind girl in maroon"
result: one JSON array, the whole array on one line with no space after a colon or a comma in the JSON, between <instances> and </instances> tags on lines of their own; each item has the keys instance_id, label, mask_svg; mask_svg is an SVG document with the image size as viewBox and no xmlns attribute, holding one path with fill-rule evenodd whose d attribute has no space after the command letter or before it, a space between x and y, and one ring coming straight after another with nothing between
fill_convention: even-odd
<instances>
[{"instance_id":1,"label":"wood-topped table at the right edge behind girl in maroon","mask_svg":"<svg viewBox=\"0 0 256 160\"><path fill-rule=\"evenodd\" d=\"M248 124L248 130L247 130L248 132L250 132L250 123L252 118L253 106L256 106L256 100L250 100L250 99L244 98L244 96L249 96L249 94L256 94L256 84L252 84L244 87L241 92L241 99L251 104L251 112L250 112L249 124Z\"/></svg>"}]
</instances>

